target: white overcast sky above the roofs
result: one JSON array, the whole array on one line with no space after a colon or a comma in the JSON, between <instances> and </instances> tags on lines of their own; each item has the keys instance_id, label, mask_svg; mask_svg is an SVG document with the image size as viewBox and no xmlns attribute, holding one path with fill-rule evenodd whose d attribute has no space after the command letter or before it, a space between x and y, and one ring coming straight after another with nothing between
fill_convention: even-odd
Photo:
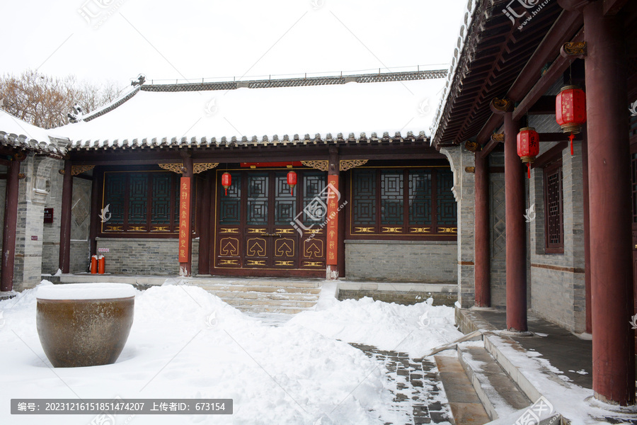
<instances>
[{"instance_id":1,"label":"white overcast sky above the roofs","mask_svg":"<svg viewBox=\"0 0 637 425\"><path fill-rule=\"evenodd\" d=\"M466 4L3 0L1 72L75 74L122 89L140 73L148 80L246 79L416 65L447 69Z\"/></svg>"}]
</instances>

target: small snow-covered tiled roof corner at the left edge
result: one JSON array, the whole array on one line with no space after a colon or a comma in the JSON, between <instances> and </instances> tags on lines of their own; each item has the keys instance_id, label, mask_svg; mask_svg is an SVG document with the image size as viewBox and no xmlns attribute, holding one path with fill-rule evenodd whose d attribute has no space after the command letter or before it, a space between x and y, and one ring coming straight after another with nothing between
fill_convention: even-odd
<instances>
[{"instance_id":1,"label":"small snow-covered tiled roof corner at the left edge","mask_svg":"<svg viewBox=\"0 0 637 425\"><path fill-rule=\"evenodd\" d=\"M51 142L48 130L14 117L0 109L0 145L30 149L49 154L63 154Z\"/></svg>"}]
</instances>

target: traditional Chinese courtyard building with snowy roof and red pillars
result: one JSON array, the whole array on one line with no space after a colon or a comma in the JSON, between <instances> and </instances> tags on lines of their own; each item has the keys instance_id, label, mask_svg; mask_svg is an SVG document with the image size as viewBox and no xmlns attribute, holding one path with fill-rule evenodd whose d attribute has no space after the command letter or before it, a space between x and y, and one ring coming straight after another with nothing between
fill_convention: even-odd
<instances>
[{"instance_id":1,"label":"traditional Chinese courtyard building with snowy roof and red pillars","mask_svg":"<svg viewBox=\"0 0 637 425\"><path fill-rule=\"evenodd\" d=\"M50 220L35 239L18 232L33 265L18 289L36 269L86 272L98 251L115 274L453 282L459 310L505 309L512 332L531 311L592 334L596 397L635 404L637 3L530 3L469 1L449 72L140 79L24 137L64 161L29 154L16 183L3 159L17 217ZM587 115L568 132L564 86L583 90Z\"/></svg>"}]
</instances>

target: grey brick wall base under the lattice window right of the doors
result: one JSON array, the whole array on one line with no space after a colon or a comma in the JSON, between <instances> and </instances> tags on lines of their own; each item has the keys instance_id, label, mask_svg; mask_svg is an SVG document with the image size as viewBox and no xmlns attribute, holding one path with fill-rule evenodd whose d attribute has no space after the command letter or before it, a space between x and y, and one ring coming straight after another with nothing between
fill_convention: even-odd
<instances>
[{"instance_id":1,"label":"grey brick wall base under the lattice window right of the doors","mask_svg":"<svg viewBox=\"0 0 637 425\"><path fill-rule=\"evenodd\" d=\"M345 278L447 283L458 279L455 241L345 241Z\"/></svg>"}]
</instances>

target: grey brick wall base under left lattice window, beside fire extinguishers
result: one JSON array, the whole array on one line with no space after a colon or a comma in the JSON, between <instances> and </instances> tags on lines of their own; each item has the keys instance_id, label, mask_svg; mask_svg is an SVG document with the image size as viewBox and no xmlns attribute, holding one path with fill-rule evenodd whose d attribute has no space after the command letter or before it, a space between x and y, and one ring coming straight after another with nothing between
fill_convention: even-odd
<instances>
[{"instance_id":1,"label":"grey brick wall base under left lattice window, beside fire extinguishers","mask_svg":"<svg viewBox=\"0 0 637 425\"><path fill-rule=\"evenodd\" d=\"M178 239L99 238L98 249L108 248L106 271L114 274L179 274ZM193 275L197 274L199 239L193 239Z\"/></svg>"}]
</instances>

